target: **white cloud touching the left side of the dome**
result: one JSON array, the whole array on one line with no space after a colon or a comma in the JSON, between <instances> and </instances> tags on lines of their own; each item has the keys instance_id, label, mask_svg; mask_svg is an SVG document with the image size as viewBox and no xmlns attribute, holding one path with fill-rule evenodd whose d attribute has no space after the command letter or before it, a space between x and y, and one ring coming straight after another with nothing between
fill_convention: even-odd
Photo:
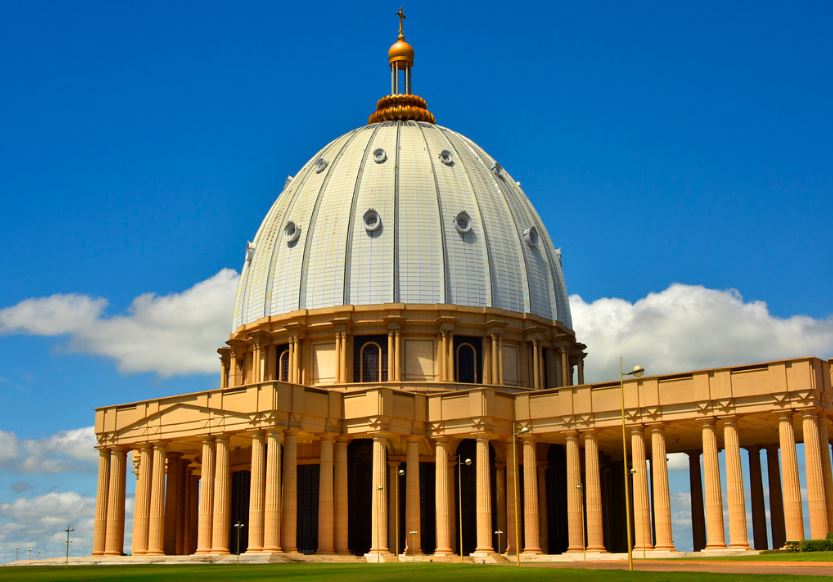
<instances>
[{"instance_id":1,"label":"white cloud touching the left side of the dome","mask_svg":"<svg viewBox=\"0 0 833 582\"><path fill-rule=\"evenodd\" d=\"M105 314L107 301L64 294L0 309L0 334L69 336L74 351L105 356L123 372L161 376L211 373L230 330L238 275L223 269L181 293L146 293L125 314Z\"/></svg>"}]
</instances>

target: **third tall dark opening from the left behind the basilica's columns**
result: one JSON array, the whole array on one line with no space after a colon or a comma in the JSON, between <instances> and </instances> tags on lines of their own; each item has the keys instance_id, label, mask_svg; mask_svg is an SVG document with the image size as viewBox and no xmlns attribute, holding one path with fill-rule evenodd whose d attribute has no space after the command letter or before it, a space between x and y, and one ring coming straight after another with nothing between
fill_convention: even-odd
<instances>
[{"instance_id":1,"label":"third tall dark opening from the left behind the basilica's columns","mask_svg":"<svg viewBox=\"0 0 833 582\"><path fill-rule=\"evenodd\" d=\"M355 556L370 551L373 488L373 441L347 445L347 548Z\"/></svg>"}]
</instances>

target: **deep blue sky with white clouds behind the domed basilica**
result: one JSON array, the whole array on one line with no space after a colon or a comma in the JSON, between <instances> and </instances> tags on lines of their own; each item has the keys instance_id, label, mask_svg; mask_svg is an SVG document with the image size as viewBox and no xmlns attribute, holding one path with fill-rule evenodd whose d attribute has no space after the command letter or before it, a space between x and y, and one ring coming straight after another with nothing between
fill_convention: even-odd
<instances>
[{"instance_id":1,"label":"deep blue sky with white clouds behind the domed basilica","mask_svg":"<svg viewBox=\"0 0 833 582\"><path fill-rule=\"evenodd\" d=\"M4 6L0 431L18 452L0 452L0 558L35 535L12 527L29 515L21 504L36 513L46 495L95 489L89 458L26 468L19 451L85 442L62 431L91 425L95 406L216 384L211 346L230 310L206 305L233 291L222 270L239 268L284 178L387 91L397 7ZM415 92L522 181L563 248L597 378L619 353L656 370L833 355L833 6L405 9ZM56 294L45 317L31 304L39 327L15 319L21 302ZM651 355L654 328L591 325L603 298L664 314L676 351ZM718 307L681 319L680 302ZM182 358L193 365L133 353L165 333L168 305L206 313L169 317L182 333L211 325L204 356ZM697 334L755 309L753 334L702 348Z\"/></svg>"}]
</instances>

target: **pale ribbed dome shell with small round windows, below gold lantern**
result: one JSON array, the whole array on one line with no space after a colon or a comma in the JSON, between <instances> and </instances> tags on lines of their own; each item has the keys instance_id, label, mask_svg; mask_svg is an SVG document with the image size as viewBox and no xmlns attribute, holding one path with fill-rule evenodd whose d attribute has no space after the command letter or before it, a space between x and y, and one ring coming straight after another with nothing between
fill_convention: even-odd
<instances>
[{"instance_id":1,"label":"pale ribbed dome shell with small round windows, below gold lantern","mask_svg":"<svg viewBox=\"0 0 833 582\"><path fill-rule=\"evenodd\" d=\"M234 328L298 309L455 304L572 327L559 253L515 180L450 129L390 121L318 152L250 243Z\"/></svg>"}]
</instances>

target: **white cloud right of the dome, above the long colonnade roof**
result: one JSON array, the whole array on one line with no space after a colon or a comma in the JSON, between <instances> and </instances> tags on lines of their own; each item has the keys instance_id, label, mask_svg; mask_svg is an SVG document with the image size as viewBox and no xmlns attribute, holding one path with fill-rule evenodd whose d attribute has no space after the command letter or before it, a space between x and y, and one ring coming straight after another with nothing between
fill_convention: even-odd
<instances>
[{"instance_id":1,"label":"white cloud right of the dome, above the long colonnade roof","mask_svg":"<svg viewBox=\"0 0 833 582\"><path fill-rule=\"evenodd\" d=\"M650 374L833 355L833 317L772 315L736 290L674 284L634 303L570 297L579 341L587 344L587 380L618 377L619 356Z\"/></svg>"}]
</instances>

